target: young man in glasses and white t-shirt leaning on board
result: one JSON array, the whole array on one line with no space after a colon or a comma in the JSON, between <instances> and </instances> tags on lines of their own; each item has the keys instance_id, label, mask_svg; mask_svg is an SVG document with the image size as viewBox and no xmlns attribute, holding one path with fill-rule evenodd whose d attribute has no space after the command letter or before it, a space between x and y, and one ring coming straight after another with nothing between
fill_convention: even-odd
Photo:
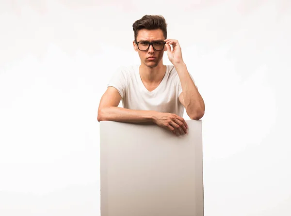
<instances>
[{"instance_id":1,"label":"young man in glasses and white t-shirt leaning on board","mask_svg":"<svg viewBox=\"0 0 291 216\"><path fill-rule=\"evenodd\" d=\"M153 122L177 136L187 133L184 108L191 119L199 120L205 105L183 62L178 40L166 39L167 24L160 15L145 15L132 27L133 48L141 65L118 69L100 100L97 120ZM163 65L164 51L174 66ZM117 107L120 100L123 108Z\"/></svg>"}]
</instances>

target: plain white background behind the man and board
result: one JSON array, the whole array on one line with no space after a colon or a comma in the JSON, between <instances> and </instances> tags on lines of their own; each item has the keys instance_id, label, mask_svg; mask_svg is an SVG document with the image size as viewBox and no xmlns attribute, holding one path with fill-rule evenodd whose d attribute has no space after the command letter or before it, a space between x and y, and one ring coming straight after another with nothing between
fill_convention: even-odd
<instances>
[{"instance_id":1,"label":"plain white background behind the man and board","mask_svg":"<svg viewBox=\"0 0 291 216\"><path fill-rule=\"evenodd\" d=\"M97 109L146 14L206 104L205 216L291 215L290 0L0 0L1 216L100 215Z\"/></svg>"}]
</instances>

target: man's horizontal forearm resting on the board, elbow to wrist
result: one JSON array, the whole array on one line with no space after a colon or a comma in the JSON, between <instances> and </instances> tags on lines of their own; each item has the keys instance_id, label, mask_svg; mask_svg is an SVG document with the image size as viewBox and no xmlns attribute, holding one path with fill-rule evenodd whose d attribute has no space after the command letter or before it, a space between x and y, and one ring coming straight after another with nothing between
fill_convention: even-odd
<instances>
[{"instance_id":1,"label":"man's horizontal forearm resting on the board, elbow to wrist","mask_svg":"<svg viewBox=\"0 0 291 216\"><path fill-rule=\"evenodd\" d=\"M156 111L134 110L120 107L101 108L97 120L114 122L153 122Z\"/></svg>"}]
</instances>

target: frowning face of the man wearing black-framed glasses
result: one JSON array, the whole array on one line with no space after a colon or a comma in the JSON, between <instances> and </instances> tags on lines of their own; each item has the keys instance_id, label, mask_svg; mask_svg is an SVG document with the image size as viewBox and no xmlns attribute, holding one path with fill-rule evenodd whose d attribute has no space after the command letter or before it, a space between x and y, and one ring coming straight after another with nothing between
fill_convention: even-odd
<instances>
[{"instance_id":1,"label":"frowning face of the man wearing black-framed glasses","mask_svg":"<svg viewBox=\"0 0 291 216\"><path fill-rule=\"evenodd\" d=\"M161 29L156 30L146 30L141 29L138 31L138 34L136 36L136 41L164 41L165 38L163 36ZM138 52L138 55L141 59L141 63L145 64L148 67L157 67L159 64L162 64L162 56L163 52L166 51L166 47L164 46L164 49L161 51L157 51L153 48L153 46L149 46L149 48L145 51L141 51L138 49L137 44L133 41L133 48L135 51ZM148 59L148 57L155 57L154 59Z\"/></svg>"}]
</instances>

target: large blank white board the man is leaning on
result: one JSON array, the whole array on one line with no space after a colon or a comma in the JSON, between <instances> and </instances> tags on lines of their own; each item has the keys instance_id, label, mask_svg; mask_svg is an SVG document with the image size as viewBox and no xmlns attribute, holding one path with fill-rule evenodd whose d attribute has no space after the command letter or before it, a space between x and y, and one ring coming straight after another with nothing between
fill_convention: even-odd
<instances>
[{"instance_id":1,"label":"large blank white board the man is leaning on","mask_svg":"<svg viewBox=\"0 0 291 216\"><path fill-rule=\"evenodd\" d=\"M100 122L101 216L203 216L202 121Z\"/></svg>"}]
</instances>

